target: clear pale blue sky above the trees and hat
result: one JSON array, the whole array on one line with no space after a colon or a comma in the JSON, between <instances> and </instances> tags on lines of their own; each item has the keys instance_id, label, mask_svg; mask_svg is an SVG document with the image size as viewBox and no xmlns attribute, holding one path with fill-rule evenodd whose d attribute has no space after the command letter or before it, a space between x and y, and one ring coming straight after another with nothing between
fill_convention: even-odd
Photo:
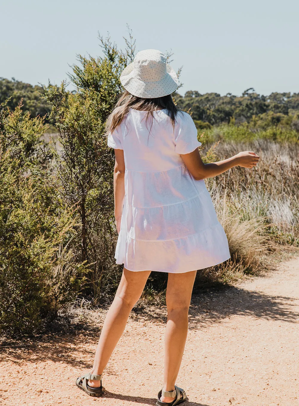
<instances>
[{"instance_id":1,"label":"clear pale blue sky above the trees and hat","mask_svg":"<svg viewBox=\"0 0 299 406\"><path fill-rule=\"evenodd\" d=\"M101 54L98 31L120 47L172 49L180 93L299 92L298 0L0 0L0 76L60 84L76 54Z\"/></svg>"}]
</instances>

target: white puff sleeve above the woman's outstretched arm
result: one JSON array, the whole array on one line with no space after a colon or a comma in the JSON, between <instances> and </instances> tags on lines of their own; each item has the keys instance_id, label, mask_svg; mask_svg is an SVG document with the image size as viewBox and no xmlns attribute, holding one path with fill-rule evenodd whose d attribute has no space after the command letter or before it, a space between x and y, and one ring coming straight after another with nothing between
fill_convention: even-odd
<instances>
[{"instance_id":1,"label":"white puff sleeve above the woman's outstretched arm","mask_svg":"<svg viewBox=\"0 0 299 406\"><path fill-rule=\"evenodd\" d=\"M178 124L179 128L174 140L174 150L179 154L195 151L197 147L200 147L201 143L197 139L197 129L191 116L183 112L182 120Z\"/></svg>"}]
</instances>

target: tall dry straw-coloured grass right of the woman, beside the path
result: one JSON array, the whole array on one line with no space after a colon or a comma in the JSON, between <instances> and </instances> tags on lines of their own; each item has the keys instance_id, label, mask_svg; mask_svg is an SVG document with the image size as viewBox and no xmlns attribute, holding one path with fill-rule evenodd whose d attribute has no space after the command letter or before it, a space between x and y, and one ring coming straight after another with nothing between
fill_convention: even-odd
<instances>
[{"instance_id":1,"label":"tall dry straw-coloured grass right of the woman, beside the path","mask_svg":"<svg viewBox=\"0 0 299 406\"><path fill-rule=\"evenodd\" d=\"M237 167L206 179L231 259L198 272L197 287L256 274L267 268L267 255L277 245L299 246L299 145L226 142L216 153L225 159L246 150L260 155L256 168Z\"/></svg>"}]
</instances>

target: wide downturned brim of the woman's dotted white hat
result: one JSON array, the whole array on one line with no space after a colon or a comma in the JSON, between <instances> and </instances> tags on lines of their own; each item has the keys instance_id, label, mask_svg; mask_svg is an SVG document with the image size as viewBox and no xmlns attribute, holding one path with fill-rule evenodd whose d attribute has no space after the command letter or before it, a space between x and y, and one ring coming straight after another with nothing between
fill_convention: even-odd
<instances>
[{"instance_id":1,"label":"wide downturned brim of the woman's dotted white hat","mask_svg":"<svg viewBox=\"0 0 299 406\"><path fill-rule=\"evenodd\" d=\"M134 76L134 63L130 63L121 73L120 82L132 95L144 99L154 99L171 95L179 86L179 79L172 67L166 63L166 75L163 79L143 82Z\"/></svg>"}]
</instances>

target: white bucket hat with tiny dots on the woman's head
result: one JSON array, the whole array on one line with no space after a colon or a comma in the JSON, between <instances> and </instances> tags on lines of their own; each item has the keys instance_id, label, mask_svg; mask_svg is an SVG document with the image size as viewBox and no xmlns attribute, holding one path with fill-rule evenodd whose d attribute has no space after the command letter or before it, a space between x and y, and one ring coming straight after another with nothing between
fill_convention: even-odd
<instances>
[{"instance_id":1,"label":"white bucket hat with tiny dots on the woman's head","mask_svg":"<svg viewBox=\"0 0 299 406\"><path fill-rule=\"evenodd\" d=\"M170 95L179 86L176 72L157 50L138 52L120 75L120 82L129 93L145 99Z\"/></svg>"}]
</instances>

